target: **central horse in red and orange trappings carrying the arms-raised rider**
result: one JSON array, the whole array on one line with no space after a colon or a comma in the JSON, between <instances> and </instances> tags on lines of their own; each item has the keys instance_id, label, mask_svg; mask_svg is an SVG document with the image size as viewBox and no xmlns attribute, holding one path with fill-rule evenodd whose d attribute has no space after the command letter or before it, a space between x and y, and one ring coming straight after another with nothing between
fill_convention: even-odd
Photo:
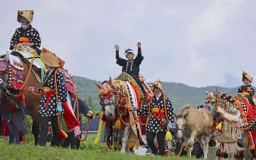
<instances>
[{"instance_id":1,"label":"central horse in red and orange trappings carrying the arms-raised rider","mask_svg":"<svg viewBox=\"0 0 256 160\"><path fill-rule=\"evenodd\" d=\"M144 83L145 84L145 83ZM142 122L137 117L137 109L143 104L143 93L134 79L122 73L114 80L96 84L100 89L100 105L102 105L102 121L105 122L105 140L108 130L118 129L122 139L121 153L126 153L126 148L138 147L142 142ZM145 85L148 92L149 86ZM153 94L151 93L151 96ZM105 149L108 148L105 143Z\"/></svg>"}]
</instances>

